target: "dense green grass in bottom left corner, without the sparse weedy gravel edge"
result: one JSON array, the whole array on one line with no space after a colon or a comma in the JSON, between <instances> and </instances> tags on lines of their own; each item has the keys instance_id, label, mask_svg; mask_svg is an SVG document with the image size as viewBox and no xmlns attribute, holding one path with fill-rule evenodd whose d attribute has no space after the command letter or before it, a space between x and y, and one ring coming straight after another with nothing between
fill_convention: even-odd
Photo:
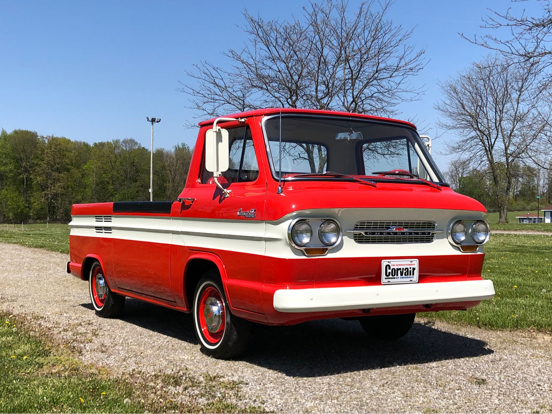
<instances>
[{"instance_id":1,"label":"dense green grass in bottom left corner, without the sparse weedy gravel edge","mask_svg":"<svg viewBox=\"0 0 552 414\"><path fill-rule=\"evenodd\" d=\"M22 331L2 314L0 412L143 412L128 381L107 378L59 349ZM94 372L95 371L95 372Z\"/></svg>"}]
</instances>

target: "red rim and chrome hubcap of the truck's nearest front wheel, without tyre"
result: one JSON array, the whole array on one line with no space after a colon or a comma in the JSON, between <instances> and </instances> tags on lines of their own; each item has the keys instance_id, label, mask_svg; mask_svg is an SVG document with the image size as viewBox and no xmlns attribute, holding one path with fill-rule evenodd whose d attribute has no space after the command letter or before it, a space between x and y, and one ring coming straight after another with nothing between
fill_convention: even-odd
<instances>
[{"instance_id":1,"label":"red rim and chrome hubcap of the truck's nearest front wheel, without tyre","mask_svg":"<svg viewBox=\"0 0 552 414\"><path fill-rule=\"evenodd\" d=\"M220 292L213 286L205 288L199 296L199 327L203 337L210 343L217 343L224 335L226 310Z\"/></svg>"}]
</instances>

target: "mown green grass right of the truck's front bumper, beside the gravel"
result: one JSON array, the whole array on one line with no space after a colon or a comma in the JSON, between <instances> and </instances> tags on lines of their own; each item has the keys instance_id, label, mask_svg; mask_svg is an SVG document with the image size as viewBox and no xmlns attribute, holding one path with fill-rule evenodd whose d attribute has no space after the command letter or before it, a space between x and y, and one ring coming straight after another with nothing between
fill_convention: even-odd
<instances>
[{"instance_id":1,"label":"mown green grass right of the truck's front bumper, beside the gravel","mask_svg":"<svg viewBox=\"0 0 552 414\"><path fill-rule=\"evenodd\" d=\"M552 331L552 238L495 234L485 251L483 277L495 284L495 298L467 311L423 316L492 329Z\"/></svg>"}]
</instances>

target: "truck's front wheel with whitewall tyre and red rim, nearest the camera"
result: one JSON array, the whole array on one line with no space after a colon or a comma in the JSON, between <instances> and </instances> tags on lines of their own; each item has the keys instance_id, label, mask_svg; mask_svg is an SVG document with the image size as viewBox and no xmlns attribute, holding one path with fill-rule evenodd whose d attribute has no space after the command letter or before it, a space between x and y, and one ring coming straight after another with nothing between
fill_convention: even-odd
<instances>
[{"instance_id":1,"label":"truck's front wheel with whitewall tyre and red rim, nearest the camera","mask_svg":"<svg viewBox=\"0 0 552 414\"><path fill-rule=\"evenodd\" d=\"M194 328L201 351L214 358L237 357L249 342L251 323L230 313L215 270L206 272L195 289Z\"/></svg>"}]
</instances>

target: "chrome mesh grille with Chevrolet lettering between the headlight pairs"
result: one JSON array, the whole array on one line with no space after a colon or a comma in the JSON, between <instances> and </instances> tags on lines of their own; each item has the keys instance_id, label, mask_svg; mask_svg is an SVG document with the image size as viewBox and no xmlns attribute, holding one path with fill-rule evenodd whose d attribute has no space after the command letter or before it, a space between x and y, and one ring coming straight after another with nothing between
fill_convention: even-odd
<instances>
[{"instance_id":1,"label":"chrome mesh grille with Chevrolet lettering between the headlight pairs","mask_svg":"<svg viewBox=\"0 0 552 414\"><path fill-rule=\"evenodd\" d=\"M354 230L363 232L353 233L353 240L357 243L431 243L436 227L435 221L359 221Z\"/></svg>"}]
</instances>

